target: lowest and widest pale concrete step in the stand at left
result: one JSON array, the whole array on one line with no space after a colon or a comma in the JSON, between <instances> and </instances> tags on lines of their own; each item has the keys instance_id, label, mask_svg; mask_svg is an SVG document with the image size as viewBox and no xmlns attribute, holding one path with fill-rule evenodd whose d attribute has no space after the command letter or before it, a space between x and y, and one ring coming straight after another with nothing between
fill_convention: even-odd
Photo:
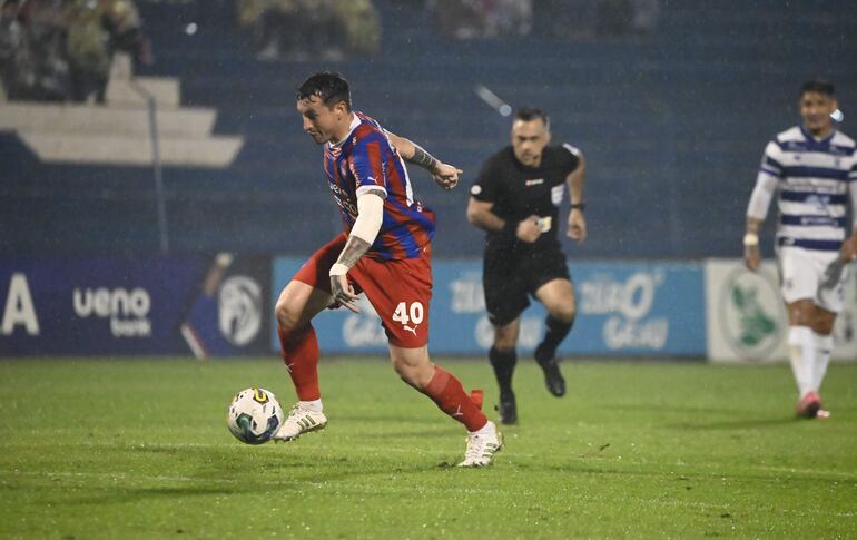
<instances>
[{"instance_id":1,"label":"lowest and widest pale concrete step in the stand at left","mask_svg":"<svg viewBox=\"0 0 857 540\"><path fill-rule=\"evenodd\" d=\"M29 130L19 130L18 135L43 161L117 166L148 166L152 161L151 143L146 136ZM162 165L176 167L228 167L243 146L243 137L165 137L159 141Z\"/></svg>"}]
</instances>

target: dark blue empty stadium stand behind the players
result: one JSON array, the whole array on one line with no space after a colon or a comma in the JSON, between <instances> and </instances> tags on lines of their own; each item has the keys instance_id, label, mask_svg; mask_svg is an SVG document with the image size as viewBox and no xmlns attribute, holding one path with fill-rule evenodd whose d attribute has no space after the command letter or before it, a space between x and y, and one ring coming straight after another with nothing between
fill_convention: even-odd
<instances>
[{"instance_id":1,"label":"dark blue empty stadium stand behind the players","mask_svg":"<svg viewBox=\"0 0 857 540\"><path fill-rule=\"evenodd\" d=\"M215 140L244 140L234 161L230 150L211 150L224 156L219 165L232 163L226 168L165 169L174 251L298 255L339 230L321 153L293 108L294 86L317 69L343 71L358 109L460 165L469 179L505 144L509 128L476 96L477 85L512 107L550 111L555 140L583 149L590 164L590 240L571 252L575 257L737 255L761 149L771 132L796 121L799 84L828 77L844 106L857 104L857 68L848 57L857 12L847 1L663 2L658 28L644 37L561 40L534 31L466 41L435 36L423 2L376 4L383 22L376 58L258 62L252 37L234 22L233 2L139 1L157 58L140 73L171 96L159 117L165 137L214 128L235 136ZM178 97L170 78L180 79L181 108L167 111ZM132 96L108 89L111 104ZM0 252L156 251L151 170L130 158L121 166L45 160L31 138L9 130L43 120L16 107L0 109ZM63 122L79 132L79 112L65 109ZM117 121L107 111L86 115L90 126ZM139 132L140 121L128 117L119 129ZM844 130L857 132L846 110ZM85 131L79 135L95 136ZM464 218L466 190L442 193L414 175L418 196L440 215L436 255L472 256L482 236Z\"/></svg>"}]
</instances>

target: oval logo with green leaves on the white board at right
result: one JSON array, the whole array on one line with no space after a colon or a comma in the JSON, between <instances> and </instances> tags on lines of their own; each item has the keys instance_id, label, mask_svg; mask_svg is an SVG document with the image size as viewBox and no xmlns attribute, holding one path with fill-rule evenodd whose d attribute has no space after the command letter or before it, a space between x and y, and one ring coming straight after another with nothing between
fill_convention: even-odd
<instances>
[{"instance_id":1,"label":"oval logo with green leaves on the white board at right","mask_svg":"<svg viewBox=\"0 0 857 540\"><path fill-rule=\"evenodd\" d=\"M782 340L785 310L774 281L766 276L765 272L736 268L720 292L720 328L742 360L766 360Z\"/></svg>"}]
</instances>

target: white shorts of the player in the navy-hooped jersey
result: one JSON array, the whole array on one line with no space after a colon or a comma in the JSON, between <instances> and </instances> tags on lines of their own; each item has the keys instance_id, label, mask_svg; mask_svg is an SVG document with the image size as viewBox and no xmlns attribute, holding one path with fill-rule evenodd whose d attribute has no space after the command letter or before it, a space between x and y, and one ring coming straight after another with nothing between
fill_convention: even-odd
<instances>
[{"instance_id":1,"label":"white shorts of the player in the navy-hooped jersey","mask_svg":"<svg viewBox=\"0 0 857 540\"><path fill-rule=\"evenodd\" d=\"M787 303L811 300L828 312L843 310L848 269L839 259L839 252L781 246L777 262L780 289Z\"/></svg>"}]
</instances>

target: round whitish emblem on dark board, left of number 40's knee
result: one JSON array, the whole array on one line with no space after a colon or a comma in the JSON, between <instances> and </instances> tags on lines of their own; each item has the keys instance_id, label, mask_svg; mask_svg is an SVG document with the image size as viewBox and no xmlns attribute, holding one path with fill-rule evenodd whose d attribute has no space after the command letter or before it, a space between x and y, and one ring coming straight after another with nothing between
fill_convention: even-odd
<instances>
[{"instance_id":1,"label":"round whitish emblem on dark board, left of number 40's knee","mask_svg":"<svg viewBox=\"0 0 857 540\"><path fill-rule=\"evenodd\" d=\"M229 343L244 346L258 335L262 328L262 287L255 279L243 275L225 279L217 305L220 333Z\"/></svg>"}]
</instances>

